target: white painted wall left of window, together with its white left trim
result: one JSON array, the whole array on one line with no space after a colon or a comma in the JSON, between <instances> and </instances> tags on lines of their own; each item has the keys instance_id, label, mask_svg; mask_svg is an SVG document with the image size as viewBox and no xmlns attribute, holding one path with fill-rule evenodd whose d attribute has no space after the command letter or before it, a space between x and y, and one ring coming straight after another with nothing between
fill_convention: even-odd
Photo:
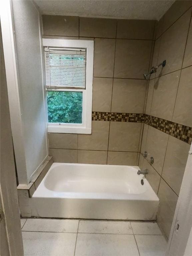
<instances>
[{"instance_id":1,"label":"white painted wall left of window, together with its white left trim","mask_svg":"<svg viewBox=\"0 0 192 256\"><path fill-rule=\"evenodd\" d=\"M19 184L28 184L48 155L41 15L33 1L5 2L1 25L11 128Z\"/></svg>"}]
</instances>

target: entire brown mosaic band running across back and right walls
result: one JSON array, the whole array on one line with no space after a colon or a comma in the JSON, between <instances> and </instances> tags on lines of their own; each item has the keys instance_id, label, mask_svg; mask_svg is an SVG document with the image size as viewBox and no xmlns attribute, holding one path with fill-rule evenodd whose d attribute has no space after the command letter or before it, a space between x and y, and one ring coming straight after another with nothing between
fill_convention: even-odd
<instances>
[{"instance_id":1,"label":"entire brown mosaic band running across back and right walls","mask_svg":"<svg viewBox=\"0 0 192 256\"><path fill-rule=\"evenodd\" d=\"M146 114L92 112L92 121L145 123L188 144L192 141L192 127Z\"/></svg>"}]
</instances>

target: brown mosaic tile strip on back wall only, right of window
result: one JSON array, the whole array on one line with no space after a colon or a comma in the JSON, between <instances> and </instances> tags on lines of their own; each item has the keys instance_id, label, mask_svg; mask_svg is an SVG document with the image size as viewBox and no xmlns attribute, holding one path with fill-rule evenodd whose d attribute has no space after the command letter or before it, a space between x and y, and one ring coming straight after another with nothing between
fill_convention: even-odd
<instances>
[{"instance_id":1,"label":"brown mosaic tile strip on back wall only, right of window","mask_svg":"<svg viewBox=\"0 0 192 256\"><path fill-rule=\"evenodd\" d=\"M143 123L145 115L136 113L92 112L92 120Z\"/></svg>"}]
</instances>

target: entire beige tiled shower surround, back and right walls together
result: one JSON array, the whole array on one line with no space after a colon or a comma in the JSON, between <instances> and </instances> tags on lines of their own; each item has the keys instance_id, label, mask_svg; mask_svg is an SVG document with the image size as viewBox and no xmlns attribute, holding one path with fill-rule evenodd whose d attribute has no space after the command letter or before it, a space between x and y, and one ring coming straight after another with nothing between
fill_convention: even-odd
<instances>
[{"instance_id":1,"label":"entire beige tiled shower surround, back and right walls together","mask_svg":"<svg viewBox=\"0 0 192 256\"><path fill-rule=\"evenodd\" d=\"M147 168L167 237L192 138L191 14L192 1L176 1L159 22L43 15L45 38L94 40L92 134L49 133L50 155Z\"/></svg>"}]
</instances>

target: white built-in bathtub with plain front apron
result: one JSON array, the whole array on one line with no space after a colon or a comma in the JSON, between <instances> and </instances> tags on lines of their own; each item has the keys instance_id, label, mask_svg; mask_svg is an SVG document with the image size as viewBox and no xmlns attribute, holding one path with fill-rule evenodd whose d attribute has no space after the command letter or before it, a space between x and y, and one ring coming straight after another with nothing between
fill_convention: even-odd
<instances>
[{"instance_id":1,"label":"white built-in bathtub with plain front apron","mask_svg":"<svg viewBox=\"0 0 192 256\"><path fill-rule=\"evenodd\" d=\"M155 220L159 199L138 169L53 163L32 196L32 216Z\"/></svg>"}]
</instances>

